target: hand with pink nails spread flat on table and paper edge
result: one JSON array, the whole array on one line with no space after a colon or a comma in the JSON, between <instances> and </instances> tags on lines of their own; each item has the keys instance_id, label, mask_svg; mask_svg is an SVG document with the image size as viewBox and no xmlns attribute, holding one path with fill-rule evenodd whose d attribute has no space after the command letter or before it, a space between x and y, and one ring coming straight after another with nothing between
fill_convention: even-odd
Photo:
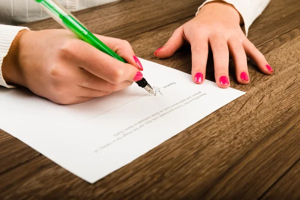
<instances>
[{"instance_id":1,"label":"hand with pink nails spread flat on table and paper edge","mask_svg":"<svg viewBox=\"0 0 300 200\"><path fill-rule=\"evenodd\" d=\"M195 83L203 83L208 56L208 48L213 53L214 75L216 84L221 88L229 87L229 54L235 65L237 81L249 82L246 56L251 58L265 74L271 74L263 54L244 35L238 11L223 1L213 1L204 5L197 16L177 28L165 45L158 48L154 55L166 58L180 48L185 42L191 46L192 70Z\"/></svg>"}]
</instances>

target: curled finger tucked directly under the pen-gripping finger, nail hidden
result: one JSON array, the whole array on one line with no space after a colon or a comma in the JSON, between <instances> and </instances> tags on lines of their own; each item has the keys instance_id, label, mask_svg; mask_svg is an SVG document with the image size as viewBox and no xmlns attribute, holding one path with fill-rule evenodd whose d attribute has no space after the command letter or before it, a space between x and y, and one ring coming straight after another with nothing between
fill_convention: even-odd
<instances>
[{"instance_id":1,"label":"curled finger tucked directly under the pen-gripping finger, nail hidden","mask_svg":"<svg viewBox=\"0 0 300 200\"><path fill-rule=\"evenodd\" d=\"M109 92L124 89L132 84L131 81L123 81L118 84L110 83L102 78L99 78L89 73L88 71L82 68L78 68L77 75L74 76L74 81L77 81L77 84L82 87Z\"/></svg>"}]
</instances>

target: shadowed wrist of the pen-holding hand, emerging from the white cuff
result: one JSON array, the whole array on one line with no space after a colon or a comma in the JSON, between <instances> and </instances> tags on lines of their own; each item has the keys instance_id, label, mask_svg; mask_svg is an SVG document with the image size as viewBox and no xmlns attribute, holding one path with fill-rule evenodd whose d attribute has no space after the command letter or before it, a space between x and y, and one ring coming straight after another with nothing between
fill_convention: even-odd
<instances>
[{"instance_id":1,"label":"shadowed wrist of the pen-holding hand, emerging from the white cuff","mask_svg":"<svg viewBox=\"0 0 300 200\"><path fill-rule=\"evenodd\" d=\"M17 84L24 86L22 70L20 67L19 52L20 40L24 33L30 30L21 30L13 39L7 55L3 58L1 70L7 84Z\"/></svg>"}]
</instances>

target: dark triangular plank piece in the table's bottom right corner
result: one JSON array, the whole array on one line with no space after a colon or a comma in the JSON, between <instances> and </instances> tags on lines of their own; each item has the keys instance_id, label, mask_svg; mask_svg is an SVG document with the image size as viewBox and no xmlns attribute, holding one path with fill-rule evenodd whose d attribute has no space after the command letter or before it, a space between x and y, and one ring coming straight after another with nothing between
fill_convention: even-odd
<instances>
[{"instance_id":1,"label":"dark triangular plank piece in the table's bottom right corner","mask_svg":"<svg viewBox=\"0 0 300 200\"><path fill-rule=\"evenodd\" d=\"M299 128L299 127L298 127ZM299 131L297 132L299 133ZM293 154L292 152L291 154ZM300 158L262 199L300 199Z\"/></svg>"}]
</instances>

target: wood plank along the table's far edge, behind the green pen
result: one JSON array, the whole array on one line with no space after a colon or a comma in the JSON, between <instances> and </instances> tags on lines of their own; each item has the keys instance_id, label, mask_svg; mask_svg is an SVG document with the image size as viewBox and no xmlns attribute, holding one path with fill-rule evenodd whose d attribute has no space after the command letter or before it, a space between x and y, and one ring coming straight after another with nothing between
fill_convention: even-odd
<instances>
[{"instance_id":1,"label":"wood plank along the table's far edge, behind the green pen","mask_svg":"<svg viewBox=\"0 0 300 200\"><path fill-rule=\"evenodd\" d=\"M74 15L91 32L128 38L195 15L204 0L120 0L80 11ZM24 24L32 30L62 28L52 19Z\"/></svg>"}]
</instances>

